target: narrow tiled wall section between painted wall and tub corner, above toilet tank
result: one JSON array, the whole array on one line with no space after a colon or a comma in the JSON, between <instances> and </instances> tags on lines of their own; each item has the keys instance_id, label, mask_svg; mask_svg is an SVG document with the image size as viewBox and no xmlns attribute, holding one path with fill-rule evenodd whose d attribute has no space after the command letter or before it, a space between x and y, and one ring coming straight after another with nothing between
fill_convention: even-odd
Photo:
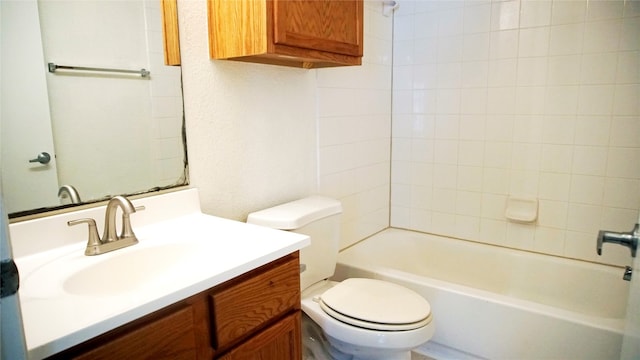
<instances>
[{"instance_id":1,"label":"narrow tiled wall section between painted wall and tub corner, above toilet tank","mask_svg":"<svg viewBox=\"0 0 640 360\"><path fill-rule=\"evenodd\" d=\"M362 66L316 73L318 192L342 202L342 248L389 226L393 22L364 3Z\"/></svg>"}]
</instances>

